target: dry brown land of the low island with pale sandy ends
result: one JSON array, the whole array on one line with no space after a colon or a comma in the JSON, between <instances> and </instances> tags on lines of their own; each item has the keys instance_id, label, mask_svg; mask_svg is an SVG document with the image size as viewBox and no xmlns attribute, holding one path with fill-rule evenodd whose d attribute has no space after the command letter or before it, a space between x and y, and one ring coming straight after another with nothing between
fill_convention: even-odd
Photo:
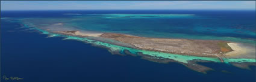
<instances>
[{"instance_id":1,"label":"dry brown land of the low island with pale sandy ends","mask_svg":"<svg viewBox=\"0 0 256 82\"><path fill-rule=\"evenodd\" d=\"M230 58L255 58L255 50L253 52L253 50L249 50L247 47L243 47L241 44L235 42L218 40L147 38L126 34L84 31L63 25L63 23L55 23L54 25L46 26L43 29L56 34L72 35L76 37L98 37L102 38L103 40L105 38L128 44L133 48L160 51L164 53L204 57L217 57L216 55L219 55ZM249 55L248 52L250 53Z\"/></svg>"}]
</instances>

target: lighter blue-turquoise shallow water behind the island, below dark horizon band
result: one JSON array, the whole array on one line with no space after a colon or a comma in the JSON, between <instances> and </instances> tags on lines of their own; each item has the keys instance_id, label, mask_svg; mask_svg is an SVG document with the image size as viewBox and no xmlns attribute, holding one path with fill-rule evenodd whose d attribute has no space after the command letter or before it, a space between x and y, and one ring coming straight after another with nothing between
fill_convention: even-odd
<instances>
[{"instance_id":1,"label":"lighter blue-turquoise shallow water behind the island, below dark horizon band","mask_svg":"<svg viewBox=\"0 0 256 82\"><path fill-rule=\"evenodd\" d=\"M255 45L253 20L234 21L197 14L82 14L22 20L43 27L55 23L86 31L152 38L225 40Z\"/></svg>"}]
</instances>

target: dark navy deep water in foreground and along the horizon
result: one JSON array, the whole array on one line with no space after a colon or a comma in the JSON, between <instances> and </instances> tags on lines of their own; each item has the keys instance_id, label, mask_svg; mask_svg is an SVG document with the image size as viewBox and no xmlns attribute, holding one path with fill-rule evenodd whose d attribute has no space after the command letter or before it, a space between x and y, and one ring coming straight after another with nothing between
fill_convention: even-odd
<instances>
[{"instance_id":1,"label":"dark navy deep water in foreground and along the horizon","mask_svg":"<svg viewBox=\"0 0 256 82\"><path fill-rule=\"evenodd\" d=\"M1 17L63 17L64 13L113 13L111 11L2 11ZM119 11L118 13L138 13ZM205 11L169 11L169 13L198 13ZM220 11L225 15L228 11ZM255 21L248 17L255 11L233 11L245 14L240 19ZM19 13L19 14L17 14ZM49 14L51 13L51 14ZM143 11L139 13L166 13ZM214 14L208 11L206 14ZM219 12L215 11L215 15ZM230 13L229 13L230 14ZM229 17L228 13L226 14ZM68 17L68 16L66 16ZM239 17L239 15L237 15ZM229 18L233 19L233 18ZM220 63L201 63L215 69L202 74L178 63L155 63L133 56L119 56L105 48L63 38L46 38L37 31L22 31L18 23L1 19L1 75L24 78L24 82L35 81L218 81L255 82L255 66L251 70ZM251 30L251 29L250 29ZM231 73L223 73L222 70ZM2 80L1 81L12 81Z\"/></svg>"}]
</instances>

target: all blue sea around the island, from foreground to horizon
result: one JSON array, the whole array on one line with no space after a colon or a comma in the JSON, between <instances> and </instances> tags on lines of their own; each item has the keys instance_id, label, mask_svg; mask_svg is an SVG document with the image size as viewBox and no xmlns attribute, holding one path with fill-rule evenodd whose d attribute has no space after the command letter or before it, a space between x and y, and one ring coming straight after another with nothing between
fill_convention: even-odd
<instances>
[{"instance_id":1,"label":"all blue sea around the island, from foreground to horizon","mask_svg":"<svg viewBox=\"0 0 256 82\"><path fill-rule=\"evenodd\" d=\"M176 14L183 15L177 17ZM101 17L95 18L97 15ZM225 63L200 63L214 69L202 74L179 63L151 62L139 56L111 54L105 48L81 41L46 38L48 35L28 30L19 21L12 20L27 18L61 20L90 31L255 45L255 10L1 11L1 75L23 78L19 81L255 81L255 66L248 70ZM70 19L80 21L64 21ZM37 20L39 23L52 21ZM95 22L102 26L93 26Z\"/></svg>"}]
</instances>

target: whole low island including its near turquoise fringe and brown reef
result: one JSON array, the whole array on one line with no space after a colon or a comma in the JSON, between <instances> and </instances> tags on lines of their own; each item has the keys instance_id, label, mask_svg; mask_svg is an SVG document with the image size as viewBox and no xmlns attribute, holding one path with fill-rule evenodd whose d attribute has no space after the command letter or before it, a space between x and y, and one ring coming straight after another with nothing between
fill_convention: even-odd
<instances>
[{"instance_id":1,"label":"whole low island including its near turquoise fringe and brown reef","mask_svg":"<svg viewBox=\"0 0 256 82\"><path fill-rule=\"evenodd\" d=\"M62 37L80 38L80 41L88 39L102 44L107 43L93 45L108 48L113 54L130 54L159 63L181 63L190 69L203 73L213 69L199 65L197 62L230 63L245 69L255 65L255 50L252 50L255 47L246 47L244 44L231 41L139 37L111 32L86 31L65 27L63 23L43 26L38 29L42 29L40 31L47 32L48 35L57 34L64 35ZM121 51L120 48L113 50L112 46L107 47L106 45L117 45L126 48L121 49ZM130 48L130 50L127 48ZM143 53L143 51L146 51L146 53Z\"/></svg>"}]
</instances>

